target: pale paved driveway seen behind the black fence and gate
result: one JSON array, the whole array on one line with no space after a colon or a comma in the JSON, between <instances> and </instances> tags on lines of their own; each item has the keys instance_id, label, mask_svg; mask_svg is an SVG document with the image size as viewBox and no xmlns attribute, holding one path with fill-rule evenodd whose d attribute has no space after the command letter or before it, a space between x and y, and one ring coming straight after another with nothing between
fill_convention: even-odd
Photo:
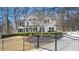
<instances>
[{"instance_id":1,"label":"pale paved driveway seen behind the black fence and gate","mask_svg":"<svg viewBox=\"0 0 79 59\"><path fill-rule=\"evenodd\" d=\"M43 50L55 50L55 42L41 46ZM57 41L57 51L79 51L79 40L63 37Z\"/></svg>"}]
</instances>

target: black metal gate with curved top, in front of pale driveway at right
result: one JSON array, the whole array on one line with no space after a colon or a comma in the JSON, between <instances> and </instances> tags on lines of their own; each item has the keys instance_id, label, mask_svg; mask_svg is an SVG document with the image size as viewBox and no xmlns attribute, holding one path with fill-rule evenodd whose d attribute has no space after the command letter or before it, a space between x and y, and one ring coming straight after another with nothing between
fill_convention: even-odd
<instances>
[{"instance_id":1,"label":"black metal gate with curved top, in front of pale driveway at right","mask_svg":"<svg viewBox=\"0 0 79 59\"><path fill-rule=\"evenodd\" d=\"M64 34L63 37L57 41L58 51L79 51L79 38Z\"/></svg>"}]
</instances>

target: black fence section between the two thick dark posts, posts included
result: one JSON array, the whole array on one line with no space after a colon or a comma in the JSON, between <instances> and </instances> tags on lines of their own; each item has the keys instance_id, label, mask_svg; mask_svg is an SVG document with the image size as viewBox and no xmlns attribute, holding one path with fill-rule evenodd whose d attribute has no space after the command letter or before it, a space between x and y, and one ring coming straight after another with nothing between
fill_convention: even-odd
<instances>
[{"instance_id":1,"label":"black fence section between the two thick dark posts, posts included","mask_svg":"<svg viewBox=\"0 0 79 59\"><path fill-rule=\"evenodd\" d=\"M49 51L57 51L57 40L55 36L37 36L37 47Z\"/></svg>"}]
</instances>

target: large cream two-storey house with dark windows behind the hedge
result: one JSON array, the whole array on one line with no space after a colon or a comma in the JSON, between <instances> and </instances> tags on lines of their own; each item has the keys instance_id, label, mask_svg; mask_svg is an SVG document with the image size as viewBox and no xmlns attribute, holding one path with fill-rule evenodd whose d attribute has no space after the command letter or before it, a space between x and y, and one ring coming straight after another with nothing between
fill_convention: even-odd
<instances>
[{"instance_id":1,"label":"large cream two-storey house with dark windows behind the hedge","mask_svg":"<svg viewBox=\"0 0 79 59\"><path fill-rule=\"evenodd\" d=\"M40 16L40 15L39 15ZM39 18L37 15L29 15L17 20L18 32L48 32L56 31L56 18L51 15L44 15Z\"/></svg>"}]
</instances>

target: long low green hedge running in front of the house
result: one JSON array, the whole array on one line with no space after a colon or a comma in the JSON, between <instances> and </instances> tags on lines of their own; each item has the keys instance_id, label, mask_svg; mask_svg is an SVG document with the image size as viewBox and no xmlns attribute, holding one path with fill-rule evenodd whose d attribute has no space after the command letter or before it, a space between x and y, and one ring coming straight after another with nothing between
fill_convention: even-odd
<instances>
[{"instance_id":1,"label":"long low green hedge running in front of the house","mask_svg":"<svg viewBox=\"0 0 79 59\"><path fill-rule=\"evenodd\" d=\"M2 34L1 38L13 37L13 36L50 36L50 35L57 35L62 36L63 32L26 32L26 33L12 33L12 34Z\"/></svg>"}]
</instances>

